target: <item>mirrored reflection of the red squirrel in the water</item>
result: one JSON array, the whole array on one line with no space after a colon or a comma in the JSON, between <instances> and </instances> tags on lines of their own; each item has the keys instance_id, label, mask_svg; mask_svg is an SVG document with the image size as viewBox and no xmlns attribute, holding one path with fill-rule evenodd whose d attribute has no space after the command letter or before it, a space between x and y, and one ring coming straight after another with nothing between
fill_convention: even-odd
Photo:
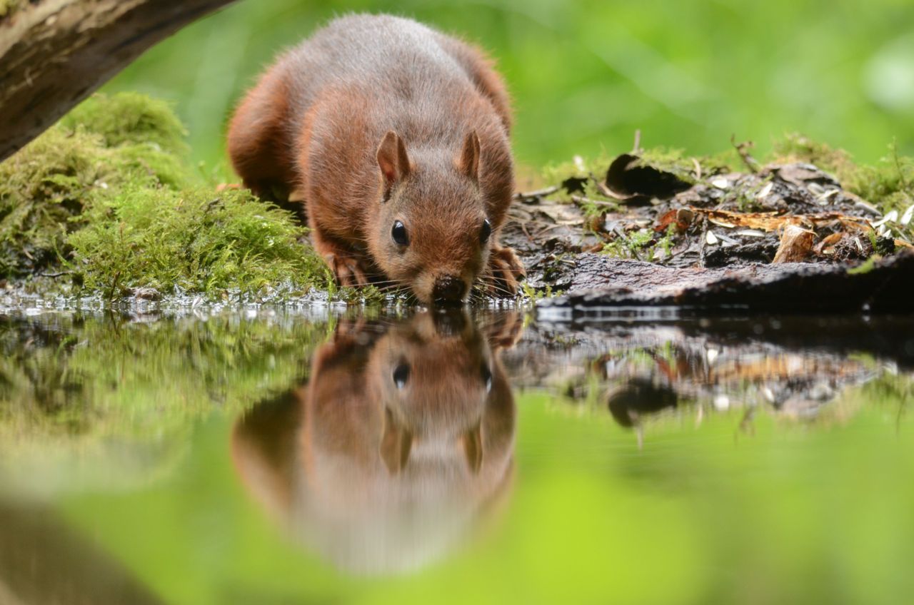
<instances>
[{"instance_id":1,"label":"mirrored reflection of the red squirrel in the water","mask_svg":"<svg viewBox=\"0 0 914 605\"><path fill-rule=\"evenodd\" d=\"M307 384L239 419L243 483L340 568L430 563L508 491L515 404L498 350L520 331L515 314L341 324Z\"/></svg>"}]
</instances>

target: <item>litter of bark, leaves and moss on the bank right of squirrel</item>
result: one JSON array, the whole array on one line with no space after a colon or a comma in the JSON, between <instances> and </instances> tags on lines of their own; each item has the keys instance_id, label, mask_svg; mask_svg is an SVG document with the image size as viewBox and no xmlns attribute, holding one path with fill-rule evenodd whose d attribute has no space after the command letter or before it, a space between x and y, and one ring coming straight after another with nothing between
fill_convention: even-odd
<instances>
[{"instance_id":1,"label":"litter of bark, leaves and moss on the bank right of squirrel","mask_svg":"<svg viewBox=\"0 0 914 605\"><path fill-rule=\"evenodd\" d=\"M678 270L671 274L679 281L664 280L680 291L707 287L696 276L726 269L749 297L761 285L753 276L762 266L773 268L769 278L814 266L829 268L815 275L840 278L880 259L880 271L890 273L897 258L911 254L914 163L894 148L871 167L796 135L764 164L749 147L734 143L736 158L691 158L636 143L630 153L578 161L564 173L552 168L550 186L516 196L505 243L525 261L530 288L602 292L593 302L600 304L631 303L632 292L650 292L650 279L643 288L637 280L618 285L619 271L639 274L639 263ZM814 293L816 284L809 287ZM563 303L568 299L550 304ZM795 307L785 301L785 309Z\"/></svg>"}]
</instances>

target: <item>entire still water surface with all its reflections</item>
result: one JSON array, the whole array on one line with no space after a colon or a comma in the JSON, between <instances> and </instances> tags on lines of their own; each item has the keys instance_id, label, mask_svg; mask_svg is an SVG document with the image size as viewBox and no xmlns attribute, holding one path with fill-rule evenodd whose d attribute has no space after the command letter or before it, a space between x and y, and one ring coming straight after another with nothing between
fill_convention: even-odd
<instances>
[{"instance_id":1,"label":"entire still water surface with all its reflections","mask_svg":"<svg viewBox=\"0 0 914 605\"><path fill-rule=\"evenodd\" d=\"M0 603L898 603L914 320L0 314Z\"/></svg>"}]
</instances>

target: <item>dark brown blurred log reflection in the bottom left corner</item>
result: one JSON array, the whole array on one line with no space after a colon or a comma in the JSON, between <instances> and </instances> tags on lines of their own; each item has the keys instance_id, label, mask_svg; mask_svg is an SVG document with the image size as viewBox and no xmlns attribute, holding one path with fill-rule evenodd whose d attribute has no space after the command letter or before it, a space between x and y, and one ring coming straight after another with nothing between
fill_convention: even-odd
<instances>
[{"instance_id":1,"label":"dark brown blurred log reflection in the bottom left corner","mask_svg":"<svg viewBox=\"0 0 914 605\"><path fill-rule=\"evenodd\" d=\"M122 565L48 509L0 502L0 603L158 602Z\"/></svg>"}]
</instances>

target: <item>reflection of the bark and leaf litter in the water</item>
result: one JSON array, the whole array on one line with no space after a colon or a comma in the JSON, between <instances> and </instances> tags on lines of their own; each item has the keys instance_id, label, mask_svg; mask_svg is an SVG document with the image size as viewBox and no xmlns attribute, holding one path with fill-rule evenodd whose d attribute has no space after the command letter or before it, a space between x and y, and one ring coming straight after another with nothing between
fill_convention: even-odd
<instances>
[{"instance_id":1,"label":"reflection of the bark and leaf litter in the water","mask_svg":"<svg viewBox=\"0 0 914 605\"><path fill-rule=\"evenodd\" d=\"M574 345L542 358L522 343L517 356L527 368L523 382L558 387L571 401L600 401L622 427L637 430L641 443L645 422L682 413L700 421L707 410L743 409L743 430L751 430L758 409L783 419L846 417L854 410L831 404L848 387L914 365L912 323L794 317L587 329L542 324L531 330L541 334L527 339ZM512 368L516 361L509 360Z\"/></svg>"}]
</instances>

